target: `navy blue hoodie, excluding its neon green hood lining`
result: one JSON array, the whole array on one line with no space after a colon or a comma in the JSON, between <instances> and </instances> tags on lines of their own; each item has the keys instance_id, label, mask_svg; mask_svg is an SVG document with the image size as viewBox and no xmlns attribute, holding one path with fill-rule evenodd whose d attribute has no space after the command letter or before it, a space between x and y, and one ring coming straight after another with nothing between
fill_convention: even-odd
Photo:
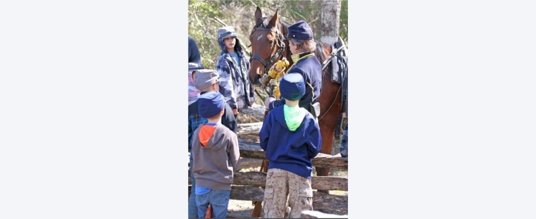
<instances>
[{"instance_id":1,"label":"navy blue hoodie, excluding its neon green hood lining","mask_svg":"<svg viewBox=\"0 0 536 219\"><path fill-rule=\"evenodd\" d=\"M259 132L260 147L270 160L268 169L287 170L311 178L314 158L322 147L318 122L308 112L300 127L288 130L282 107L270 110Z\"/></svg>"}]
</instances>

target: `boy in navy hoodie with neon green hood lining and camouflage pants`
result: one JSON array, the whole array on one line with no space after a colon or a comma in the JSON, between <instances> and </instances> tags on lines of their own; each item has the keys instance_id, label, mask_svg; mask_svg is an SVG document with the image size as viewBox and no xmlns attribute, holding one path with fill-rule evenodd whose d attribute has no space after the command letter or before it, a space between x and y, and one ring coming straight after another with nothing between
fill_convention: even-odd
<instances>
[{"instance_id":1,"label":"boy in navy hoodie with neon green hood lining and camouflage pants","mask_svg":"<svg viewBox=\"0 0 536 219\"><path fill-rule=\"evenodd\" d=\"M260 147L269 160L264 190L264 217L290 217L312 210L311 159L320 152L322 138L316 119L299 100L306 87L301 74L286 74L279 84L285 105L272 109L260 129ZM288 200L287 200L288 197Z\"/></svg>"}]
</instances>

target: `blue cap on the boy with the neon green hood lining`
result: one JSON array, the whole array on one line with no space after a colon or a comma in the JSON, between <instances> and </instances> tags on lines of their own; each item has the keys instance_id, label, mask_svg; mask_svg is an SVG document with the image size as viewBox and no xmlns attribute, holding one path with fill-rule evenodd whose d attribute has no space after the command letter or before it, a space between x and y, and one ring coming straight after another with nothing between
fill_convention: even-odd
<instances>
[{"instance_id":1,"label":"blue cap on the boy with the neon green hood lining","mask_svg":"<svg viewBox=\"0 0 536 219\"><path fill-rule=\"evenodd\" d=\"M300 100L305 94L305 81L299 73L285 74L279 82L279 92L287 100Z\"/></svg>"}]
</instances>

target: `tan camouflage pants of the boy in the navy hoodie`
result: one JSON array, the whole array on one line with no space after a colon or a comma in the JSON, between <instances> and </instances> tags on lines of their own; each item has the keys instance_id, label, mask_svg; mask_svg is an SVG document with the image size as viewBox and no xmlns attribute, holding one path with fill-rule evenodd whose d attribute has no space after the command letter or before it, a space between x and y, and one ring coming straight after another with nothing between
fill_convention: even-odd
<instances>
[{"instance_id":1,"label":"tan camouflage pants of the boy in the navy hoodie","mask_svg":"<svg viewBox=\"0 0 536 219\"><path fill-rule=\"evenodd\" d=\"M292 218L299 218L302 210L312 210L311 179L286 170L269 169L264 189L264 217L284 217L287 203Z\"/></svg>"}]
</instances>

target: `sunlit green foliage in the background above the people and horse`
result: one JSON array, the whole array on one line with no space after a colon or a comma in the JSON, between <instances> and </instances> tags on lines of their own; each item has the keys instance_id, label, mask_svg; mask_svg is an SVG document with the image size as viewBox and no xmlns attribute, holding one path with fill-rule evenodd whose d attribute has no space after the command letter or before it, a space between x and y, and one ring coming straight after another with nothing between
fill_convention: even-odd
<instances>
[{"instance_id":1,"label":"sunlit green foliage in the background above the people and horse","mask_svg":"<svg viewBox=\"0 0 536 219\"><path fill-rule=\"evenodd\" d=\"M279 9L281 20L293 24L298 20L309 23L320 39L320 9L322 1L207 1L190 0L188 4L188 34L196 40L201 61L207 69L215 69L220 55L217 42L218 28L233 26L243 45L249 45L249 34L254 27L255 9L259 6L263 17L272 16ZM348 42L348 1L341 1L339 35ZM248 48L245 48L248 49Z\"/></svg>"}]
</instances>

